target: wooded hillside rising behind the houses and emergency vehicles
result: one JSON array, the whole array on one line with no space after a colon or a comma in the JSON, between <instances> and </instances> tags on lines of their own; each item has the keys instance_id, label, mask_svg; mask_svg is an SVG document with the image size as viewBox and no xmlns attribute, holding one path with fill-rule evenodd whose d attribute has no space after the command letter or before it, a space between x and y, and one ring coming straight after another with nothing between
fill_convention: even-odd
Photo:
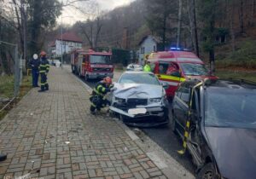
<instances>
[{"instance_id":1,"label":"wooded hillside rising behind the houses and emergency vehicles","mask_svg":"<svg viewBox=\"0 0 256 179\"><path fill-rule=\"evenodd\" d=\"M237 50L241 55L243 48L253 43L255 15L255 0L137 0L95 19L78 22L73 30L91 48L121 48L127 30L127 49L137 49L144 36L153 34L163 50L177 45L214 61L216 54L218 60L229 58ZM241 44L246 41L251 43ZM256 57L249 55L249 59ZM246 61L247 57L241 60Z\"/></svg>"}]
</instances>

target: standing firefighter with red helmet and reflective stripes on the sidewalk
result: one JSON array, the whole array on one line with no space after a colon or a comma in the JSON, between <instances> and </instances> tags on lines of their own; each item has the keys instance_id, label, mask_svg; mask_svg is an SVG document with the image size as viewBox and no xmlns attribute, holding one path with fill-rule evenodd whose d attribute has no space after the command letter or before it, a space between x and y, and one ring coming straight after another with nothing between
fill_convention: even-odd
<instances>
[{"instance_id":1,"label":"standing firefighter with red helmet and reflective stripes on the sidewalk","mask_svg":"<svg viewBox=\"0 0 256 179\"><path fill-rule=\"evenodd\" d=\"M39 72L41 75L41 90L38 92L44 92L45 90L49 90L49 84L47 83L47 73L49 72L49 61L46 58L46 53L42 51L40 53L40 66Z\"/></svg>"}]
</instances>

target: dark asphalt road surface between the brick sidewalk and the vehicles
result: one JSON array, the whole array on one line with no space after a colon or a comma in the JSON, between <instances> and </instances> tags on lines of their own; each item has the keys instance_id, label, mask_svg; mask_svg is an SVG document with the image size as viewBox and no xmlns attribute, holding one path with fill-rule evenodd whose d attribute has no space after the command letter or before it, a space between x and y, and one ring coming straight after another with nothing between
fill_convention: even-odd
<instances>
[{"instance_id":1,"label":"dark asphalt road surface between the brick sidewalk and the vehicles","mask_svg":"<svg viewBox=\"0 0 256 179\"><path fill-rule=\"evenodd\" d=\"M117 81L121 72L115 72L113 81ZM79 77L78 77L79 78ZM82 79L84 81L84 79ZM85 82L91 88L95 86L97 80L90 80L90 82ZM172 104L170 104L170 107ZM172 115L170 118L172 121ZM181 156L177 153L177 150L182 149L181 139L175 135L171 130L171 122L167 126L163 127L154 127L154 128L144 128L141 129L143 132L149 136L154 142L156 142L160 147L162 147L166 153L170 154L173 159L176 159L178 163L183 165L184 168L189 170L192 174L195 175L195 166L192 164L191 158L189 155Z\"/></svg>"}]
</instances>

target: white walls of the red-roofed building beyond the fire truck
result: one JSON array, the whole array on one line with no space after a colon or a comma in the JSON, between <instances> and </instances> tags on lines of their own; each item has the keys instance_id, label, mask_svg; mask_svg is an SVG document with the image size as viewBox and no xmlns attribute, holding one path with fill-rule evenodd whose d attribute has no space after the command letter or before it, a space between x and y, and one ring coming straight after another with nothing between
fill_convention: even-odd
<instances>
[{"instance_id":1,"label":"white walls of the red-roofed building beyond the fire truck","mask_svg":"<svg viewBox=\"0 0 256 179\"><path fill-rule=\"evenodd\" d=\"M73 49L80 49L82 48L82 43L76 43L76 42L62 42L62 54L67 54L71 52ZM61 55L61 40L56 40L55 42L55 55L60 56Z\"/></svg>"}]
</instances>

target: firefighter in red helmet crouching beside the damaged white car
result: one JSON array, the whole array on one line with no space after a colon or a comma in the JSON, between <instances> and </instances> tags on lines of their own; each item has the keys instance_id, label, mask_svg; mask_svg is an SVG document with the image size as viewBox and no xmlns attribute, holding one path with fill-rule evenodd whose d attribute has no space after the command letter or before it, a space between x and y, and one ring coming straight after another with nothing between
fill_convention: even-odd
<instances>
[{"instance_id":1,"label":"firefighter in red helmet crouching beside the damaged white car","mask_svg":"<svg viewBox=\"0 0 256 179\"><path fill-rule=\"evenodd\" d=\"M100 111L102 107L110 105L110 101L106 99L106 95L113 88L112 79L107 77L97 83L90 95L90 113L96 114L96 110Z\"/></svg>"}]
</instances>

